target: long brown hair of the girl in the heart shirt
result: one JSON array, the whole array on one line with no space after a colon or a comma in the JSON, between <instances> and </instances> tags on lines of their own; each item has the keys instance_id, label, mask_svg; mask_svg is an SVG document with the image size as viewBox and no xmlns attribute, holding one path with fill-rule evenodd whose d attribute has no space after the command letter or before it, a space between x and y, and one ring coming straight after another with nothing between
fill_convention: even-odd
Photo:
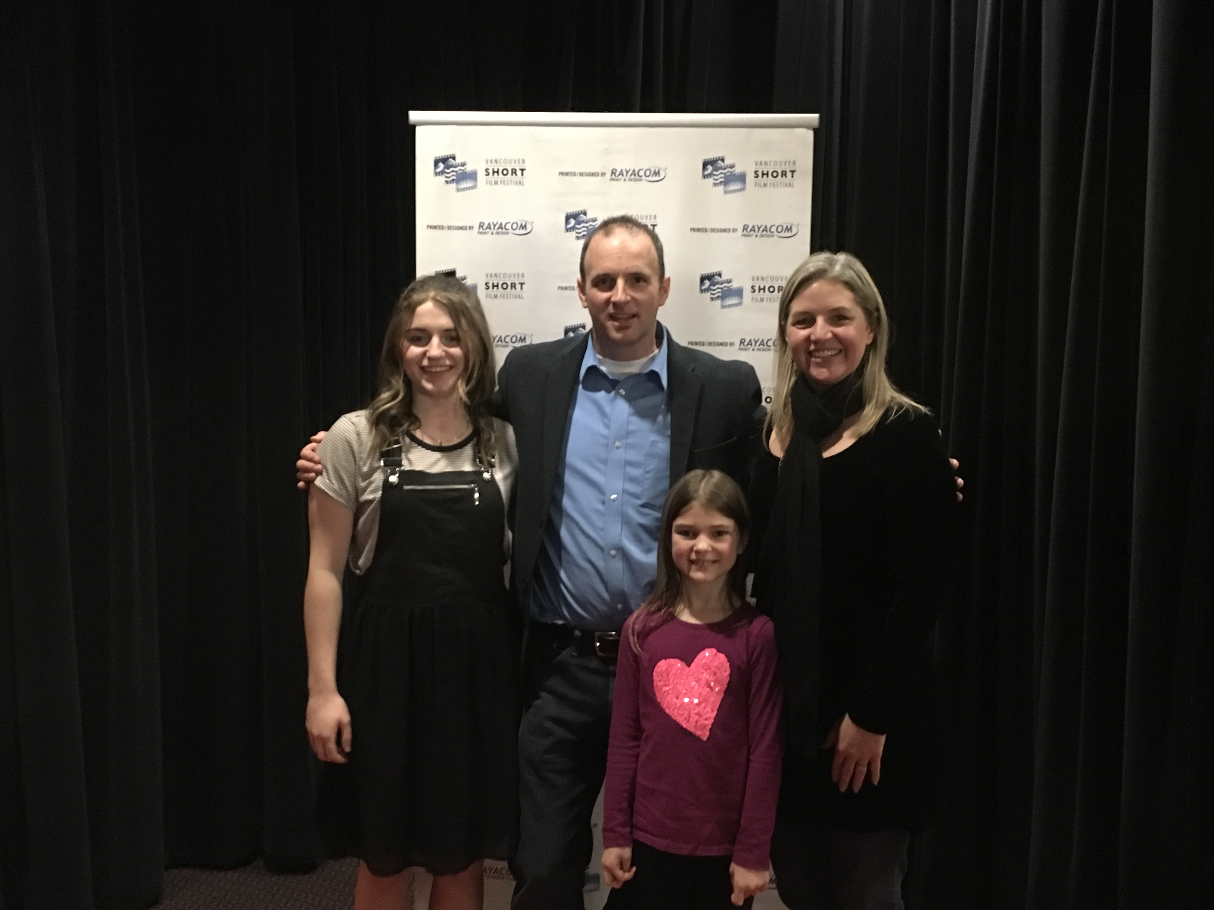
<instances>
[{"instance_id":1,"label":"long brown hair of the girl in the heart shirt","mask_svg":"<svg viewBox=\"0 0 1214 910\"><path fill-rule=\"evenodd\" d=\"M720 512L726 518L732 519L738 528L738 559L730 569L727 590L734 608L747 603L747 563L745 559L741 558L742 551L750 539L750 510L747 508L747 497L742 493L742 488L724 471L690 471L670 488L666 502L662 507L662 530L658 534L658 580L653 585L653 593L636 610L629 627L628 641L637 654L641 653L639 627L645 626L648 632L674 618L679 602L682 599L682 574L675 565L670 540L675 521L683 513L685 508L697 502L704 508L711 508L714 512ZM744 619L749 615L749 610L734 609L731 615Z\"/></svg>"}]
</instances>

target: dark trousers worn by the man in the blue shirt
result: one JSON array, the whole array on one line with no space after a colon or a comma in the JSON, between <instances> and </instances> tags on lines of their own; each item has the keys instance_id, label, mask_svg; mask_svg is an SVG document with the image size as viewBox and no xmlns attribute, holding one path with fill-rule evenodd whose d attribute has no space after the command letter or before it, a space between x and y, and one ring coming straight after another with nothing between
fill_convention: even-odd
<instances>
[{"instance_id":1,"label":"dark trousers worn by the man in the blue shirt","mask_svg":"<svg viewBox=\"0 0 1214 910\"><path fill-rule=\"evenodd\" d=\"M607 770L615 667L543 639L528 644L534 700L518 728L512 910L582 910L590 815Z\"/></svg>"}]
</instances>

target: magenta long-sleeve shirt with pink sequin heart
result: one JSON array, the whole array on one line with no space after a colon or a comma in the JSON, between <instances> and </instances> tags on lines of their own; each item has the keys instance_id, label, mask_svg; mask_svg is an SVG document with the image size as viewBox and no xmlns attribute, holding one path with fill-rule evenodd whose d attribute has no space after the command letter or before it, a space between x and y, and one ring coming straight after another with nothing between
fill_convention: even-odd
<instances>
[{"instance_id":1,"label":"magenta long-sleeve shirt with pink sequin heart","mask_svg":"<svg viewBox=\"0 0 1214 910\"><path fill-rule=\"evenodd\" d=\"M603 846L643 841L767 869L781 768L771 620L670 619L629 644L624 624L607 750Z\"/></svg>"}]
</instances>

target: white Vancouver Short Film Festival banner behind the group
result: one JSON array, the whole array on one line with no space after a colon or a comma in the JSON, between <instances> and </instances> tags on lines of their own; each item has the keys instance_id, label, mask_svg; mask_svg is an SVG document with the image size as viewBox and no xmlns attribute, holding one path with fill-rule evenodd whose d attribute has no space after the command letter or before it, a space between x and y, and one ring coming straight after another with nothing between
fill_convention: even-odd
<instances>
[{"instance_id":1,"label":"white Vancouver Short Film Festival banner behind the group","mask_svg":"<svg viewBox=\"0 0 1214 910\"><path fill-rule=\"evenodd\" d=\"M816 114L412 112L418 274L476 288L498 349L585 331L578 257L612 215L654 227L665 248L674 339L750 363L770 394L776 308L810 252ZM607 898L595 855L586 906ZM486 908L514 882L486 864ZM418 905L429 882L418 880ZM782 906L773 893L759 908Z\"/></svg>"}]
</instances>

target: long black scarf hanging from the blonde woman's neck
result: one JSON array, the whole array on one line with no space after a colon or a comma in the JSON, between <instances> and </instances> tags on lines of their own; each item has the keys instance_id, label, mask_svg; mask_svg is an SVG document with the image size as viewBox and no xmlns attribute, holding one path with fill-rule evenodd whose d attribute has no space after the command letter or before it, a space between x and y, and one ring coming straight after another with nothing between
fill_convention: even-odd
<instances>
[{"instance_id":1,"label":"long black scarf hanging from the blonde woman's neck","mask_svg":"<svg viewBox=\"0 0 1214 910\"><path fill-rule=\"evenodd\" d=\"M811 757L826 735L818 718L822 440L864 406L863 380L856 370L819 393L800 376L789 397L793 436L779 463L776 501L755 587L759 609L776 624L776 645L784 678L787 751L790 756Z\"/></svg>"}]
</instances>

